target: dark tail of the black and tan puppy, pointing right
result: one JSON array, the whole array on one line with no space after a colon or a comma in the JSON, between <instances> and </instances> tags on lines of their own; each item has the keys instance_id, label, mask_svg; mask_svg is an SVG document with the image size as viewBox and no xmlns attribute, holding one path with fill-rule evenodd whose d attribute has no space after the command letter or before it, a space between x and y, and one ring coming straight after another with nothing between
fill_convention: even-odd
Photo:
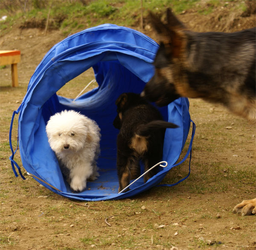
<instances>
[{"instance_id":1,"label":"dark tail of the black and tan puppy, pointing right","mask_svg":"<svg viewBox=\"0 0 256 250\"><path fill-rule=\"evenodd\" d=\"M151 121L147 124L141 124L138 127L136 134L140 136L148 136L153 132L154 129L163 129L163 128L176 129L178 127L179 127L178 125L171 122L156 120L156 121Z\"/></svg>"}]
</instances>

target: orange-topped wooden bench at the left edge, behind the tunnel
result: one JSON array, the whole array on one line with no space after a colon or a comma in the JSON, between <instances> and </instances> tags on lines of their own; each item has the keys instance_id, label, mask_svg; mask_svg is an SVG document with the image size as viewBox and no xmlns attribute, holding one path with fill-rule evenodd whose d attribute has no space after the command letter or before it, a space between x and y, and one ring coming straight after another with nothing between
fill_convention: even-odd
<instances>
[{"instance_id":1,"label":"orange-topped wooden bench at the left edge, behind the tunnel","mask_svg":"<svg viewBox=\"0 0 256 250\"><path fill-rule=\"evenodd\" d=\"M11 64L12 65L12 86L17 87L18 83L18 70L17 63L20 62L19 50L0 50L0 66Z\"/></svg>"}]
</instances>

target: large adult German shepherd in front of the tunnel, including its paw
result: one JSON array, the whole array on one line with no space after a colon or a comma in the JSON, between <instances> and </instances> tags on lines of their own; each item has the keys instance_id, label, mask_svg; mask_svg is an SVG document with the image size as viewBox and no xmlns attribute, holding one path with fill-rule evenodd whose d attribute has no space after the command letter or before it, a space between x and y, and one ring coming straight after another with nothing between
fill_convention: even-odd
<instances>
[{"instance_id":1,"label":"large adult German shepherd in front of the tunnel, including its paw","mask_svg":"<svg viewBox=\"0 0 256 250\"><path fill-rule=\"evenodd\" d=\"M256 122L256 28L234 33L192 32L167 9L167 24L150 13L160 48L155 75L142 96L165 106L184 96L222 103L231 112ZM236 213L256 213L256 198L243 201Z\"/></svg>"}]
</instances>

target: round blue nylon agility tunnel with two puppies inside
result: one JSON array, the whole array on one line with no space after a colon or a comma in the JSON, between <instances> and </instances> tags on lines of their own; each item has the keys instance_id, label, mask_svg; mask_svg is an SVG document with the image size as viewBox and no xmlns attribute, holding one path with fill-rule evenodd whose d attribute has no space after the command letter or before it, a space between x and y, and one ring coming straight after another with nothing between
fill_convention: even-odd
<instances>
[{"instance_id":1,"label":"round blue nylon agility tunnel with two puppies inside","mask_svg":"<svg viewBox=\"0 0 256 250\"><path fill-rule=\"evenodd\" d=\"M168 167L145 184L141 178L130 191L122 194L118 194L116 174L116 136L119 130L112 125L116 116L116 98L123 92L140 93L154 75L152 62L157 49L158 44L144 34L111 24L86 29L53 46L32 75L20 108L20 156L26 171L35 175L35 180L49 190L86 201L127 198L162 181L186 142L190 127L188 100L180 98L160 109L166 121L180 126L166 129L163 160L168 162ZM75 102L56 95L68 81L90 67L93 67L98 88ZM81 89L86 84L81 83ZM64 109L81 112L101 128L100 177L88 182L87 189L81 193L71 192L47 141L45 127L49 117Z\"/></svg>"}]
</instances>

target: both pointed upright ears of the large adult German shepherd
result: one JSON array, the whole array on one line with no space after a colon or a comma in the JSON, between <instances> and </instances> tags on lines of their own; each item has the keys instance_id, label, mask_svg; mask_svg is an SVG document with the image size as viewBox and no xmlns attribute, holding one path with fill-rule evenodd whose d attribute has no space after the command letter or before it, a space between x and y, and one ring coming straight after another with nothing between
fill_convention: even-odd
<instances>
[{"instance_id":1,"label":"both pointed upright ears of the large adult German shepherd","mask_svg":"<svg viewBox=\"0 0 256 250\"><path fill-rule=\"evenodd\" d=\"M186 29L171 9L167 9L167 24L161 22L160 18L149 12L151 23L159 34L160 41L164 44L166 54L172 57L179 57L184 43L184 32Z\"/></svg>"}]
</instances>

